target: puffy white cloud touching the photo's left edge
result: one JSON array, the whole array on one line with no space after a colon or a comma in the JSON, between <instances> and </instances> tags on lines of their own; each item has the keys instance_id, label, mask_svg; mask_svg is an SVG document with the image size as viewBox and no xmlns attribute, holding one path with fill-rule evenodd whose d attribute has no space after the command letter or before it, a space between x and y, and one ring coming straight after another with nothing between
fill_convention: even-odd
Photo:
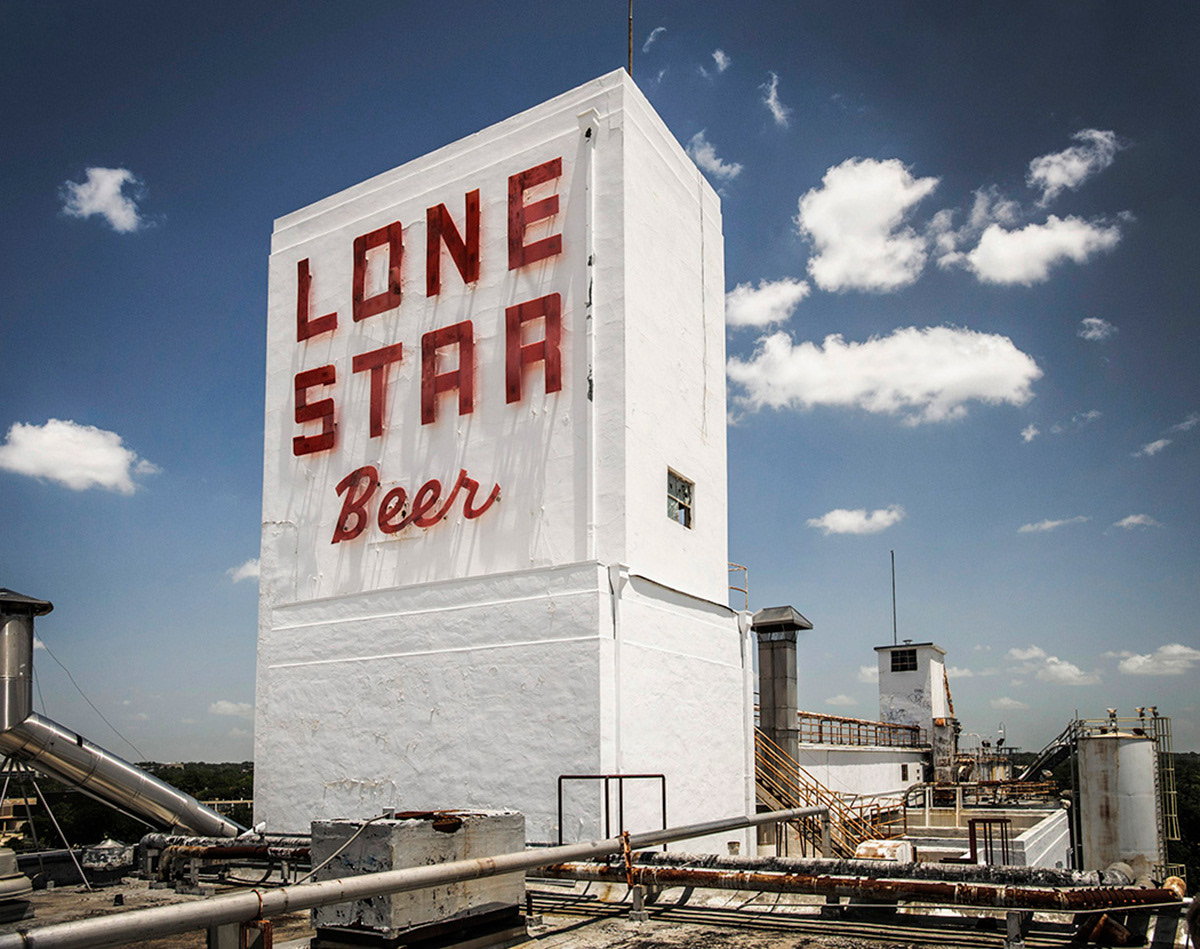
<instances>
[{"instance_id":1,"label":"puffy white cloud touching the photo's left edge","mask_svg":"<svg viewBox=\"0 0 1200 949\"><path fill-rule=\"evenodd\" d=\"M0 468L58 481L72 491L100 487L121 494L134 492L134 475L160 470L125 448L115 432L60 419L46 425L14 422L0 445Z\"/></svg>"}]
</instances>

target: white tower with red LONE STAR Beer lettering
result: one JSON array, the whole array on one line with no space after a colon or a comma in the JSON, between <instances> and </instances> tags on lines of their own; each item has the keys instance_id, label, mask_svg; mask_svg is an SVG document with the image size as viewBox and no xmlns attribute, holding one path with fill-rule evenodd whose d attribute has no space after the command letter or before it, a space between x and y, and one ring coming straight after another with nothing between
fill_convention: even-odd
<instances>
[{"instance_id":1,"label":"white tower with red LONE STAR Beer lettering","mask_svg":"<svg viewBox=\"0 0 1200 949\"><path fill-rule=\"evenodd\" d=\"M752 811L720 203L623 71L280 218L266 376L256 819Z\"/></svg>"}]
</instances>

